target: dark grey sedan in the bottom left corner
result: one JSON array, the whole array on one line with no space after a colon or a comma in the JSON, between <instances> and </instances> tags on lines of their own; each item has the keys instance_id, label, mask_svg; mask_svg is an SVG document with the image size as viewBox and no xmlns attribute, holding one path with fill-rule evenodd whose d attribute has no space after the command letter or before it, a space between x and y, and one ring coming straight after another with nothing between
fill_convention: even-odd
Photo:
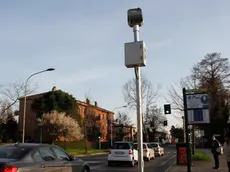
<instances>
[{"instance_id":1,"label":"dark grey sedan in the bottom left corner","mask_svg":"<svg viewBox=\"0 0 230 172\"><path fill-rule=\"evenodd\" d=\"M15 143L0 146L0 171L90 172L90 167L55 145Z\"/></svg>"}]
</instances>

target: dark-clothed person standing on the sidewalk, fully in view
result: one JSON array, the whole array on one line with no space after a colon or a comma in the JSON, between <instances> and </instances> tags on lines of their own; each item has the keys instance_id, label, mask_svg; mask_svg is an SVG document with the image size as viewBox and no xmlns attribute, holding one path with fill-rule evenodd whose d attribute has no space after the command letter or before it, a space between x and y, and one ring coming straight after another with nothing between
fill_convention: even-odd
<instances>
[{"instance_id":1,"label":"dark-clothed person standing on the sidewalk, fully in view","mask_svg":"<svg viewBox=\"0 0 230 172\"><path fill-rule=\"evenodd\" d=\"M220 142L213 135L212 136L212 147L211 147L211 152L213 154L213 159L215 162L215 166L213 167L213 169L219 169L219 167L220 167L220 162L219 162L220 153L217 152L217 148L219 148L219 147L220 147Z\"/></svg>"}]
</instances>

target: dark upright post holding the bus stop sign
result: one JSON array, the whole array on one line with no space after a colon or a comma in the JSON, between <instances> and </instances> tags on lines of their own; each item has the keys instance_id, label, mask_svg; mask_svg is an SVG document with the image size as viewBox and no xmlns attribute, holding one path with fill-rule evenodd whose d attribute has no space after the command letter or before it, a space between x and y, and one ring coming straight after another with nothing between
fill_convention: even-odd
<instances>
[{"instance_id":1,"label":"dark upright post holding the bus stop sign","mask_svg":"<svg viewBox=\"0 0 230 172\"><path fill-rule=\"evenodd\" d=\"M185 133L186 133L186 144L187 144L187 170L191 172L191 150L190 141L188 133L188 110L187 110L187 99L186 99L186 89L183 88L183 100L184 100L184 122L185 122Z\"/></svg>"}]
</instances>

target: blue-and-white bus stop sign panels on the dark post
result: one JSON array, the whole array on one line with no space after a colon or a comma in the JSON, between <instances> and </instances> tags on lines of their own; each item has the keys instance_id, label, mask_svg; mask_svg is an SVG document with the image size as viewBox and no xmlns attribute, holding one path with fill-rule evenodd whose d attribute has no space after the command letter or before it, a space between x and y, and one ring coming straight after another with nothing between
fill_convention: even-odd
<instances>
[{"instance_id":1,"label":"blue-and-white bus stop sign panels on the dark post","mask_svg":"<svg viewBox=\"0 0 230 172\"><path fill-rule=\"evenodd\" d=\"M188 124L210 123L208 94L186 94Z\"/></svg>"}]
</instances>

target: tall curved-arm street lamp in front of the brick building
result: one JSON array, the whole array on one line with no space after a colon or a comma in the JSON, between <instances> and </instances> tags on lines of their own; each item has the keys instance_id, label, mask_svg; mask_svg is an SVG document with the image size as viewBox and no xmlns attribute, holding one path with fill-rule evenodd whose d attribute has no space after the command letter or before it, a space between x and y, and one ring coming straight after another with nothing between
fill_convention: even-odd
<instances>
[{"instance_id":1,"label":"tall curved-arm street lamp in front of the brick building","mask_svg":"<svg viewBox=\"0 0 230 172\"><path fill-rule=\"evenodd\" d=\"M27 94L27 84L28 84L28 81L31 77L33 77L34 75L38 75L40 73L43 73L43 72L49 72L49 71L54 71L55 69L54 68L48 68L46 70L42 70L40 72L36 72L36 73L33 73L32 75L30 75L26 82L25 82L25 92L24 92L24 111L23 111L23 123L22 123L22 143L25 143L25 127L26 127L26 94Z\"/></svg>"}]
</instances>

